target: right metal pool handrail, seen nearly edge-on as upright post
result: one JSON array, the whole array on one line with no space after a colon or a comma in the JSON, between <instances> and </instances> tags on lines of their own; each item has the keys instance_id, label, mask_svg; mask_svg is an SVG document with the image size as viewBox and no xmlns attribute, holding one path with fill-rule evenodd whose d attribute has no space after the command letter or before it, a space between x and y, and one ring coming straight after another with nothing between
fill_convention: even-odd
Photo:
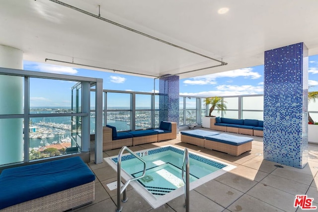
<instances>
[{"instance_id":1,"label":"right metal pool handrail, seen nearly edge-on as upright post","mask_svg":"<svg viewBox=\"0 0 318 212\"><path fill-rule=\"evenodd\" d=\"M185 165L185 180L184 180L184 165ZM184 148L183 162L182 162L182 180L184 183L184 207L186 212L190 212L190 164L189 151Z\"/></svg>"}]
</instances>

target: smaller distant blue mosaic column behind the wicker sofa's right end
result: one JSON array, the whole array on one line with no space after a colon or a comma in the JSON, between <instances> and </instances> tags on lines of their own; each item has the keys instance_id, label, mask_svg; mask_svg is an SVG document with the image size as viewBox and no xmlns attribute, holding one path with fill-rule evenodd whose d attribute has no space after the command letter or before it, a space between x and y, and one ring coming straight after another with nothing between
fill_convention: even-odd
<instances>
[{"instance_id":1,"label":"smaller distant blue mosaic column behind the wicker sofa's right end","mask_svg":"<svg viewBox=\"0 0 318 212\"><path fill-rule=\"evenodd\" d=\"M159 122L176 122L179 129L179 76L159 78Z\"/></svg>"}]
</instances>

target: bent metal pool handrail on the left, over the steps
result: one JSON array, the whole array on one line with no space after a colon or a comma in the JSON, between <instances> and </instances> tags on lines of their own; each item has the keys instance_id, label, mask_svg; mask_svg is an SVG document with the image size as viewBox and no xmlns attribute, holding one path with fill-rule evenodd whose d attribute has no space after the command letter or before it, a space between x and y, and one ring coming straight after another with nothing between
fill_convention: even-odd
<instances>
[{"instance_id":1,"label":"bent metal pool handrail on the left, over the steps","mask_svg":"<svg viewBox=\"0 0 318 212\"><path fill-rule=\"evenodd\" d=\"M122 189L120 189L120 183L121 183L121 157L123 152L127 150L129 151L132 155L134 155L136 158L138 158L139 160L141 160L144 163L144 172L142 174L142 176L139 177L135 177L135 178L130 178L129 180L127 180L127 182L125 183L125 185L123 186ZM121 210L123 209L123 207L121 207L121 202L120 202L120 196L121 194L124 192L124 196L123 196L123 202L126 203L128 201L127 195L126 195L126 188L128 186L128 184L134 180L138 180L140 178L143 178L145 176L146 173L146 162L141 159L135 152L133 152L132 150L130 150L127 146L123 146L118 154L118 161L117 161L117 210L116 212L121 212Z\"/></svg>"}]
</instances>

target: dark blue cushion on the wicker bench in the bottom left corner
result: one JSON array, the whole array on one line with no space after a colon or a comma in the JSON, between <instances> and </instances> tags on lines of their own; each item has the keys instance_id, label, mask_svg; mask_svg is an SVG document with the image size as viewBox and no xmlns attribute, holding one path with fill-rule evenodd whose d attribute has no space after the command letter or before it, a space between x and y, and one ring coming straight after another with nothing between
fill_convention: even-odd
<instances>
[{"instance_id":1,"label":"dark blue cushion on the wicker bench in the bottom left corner","mask_svg":"<svg viewBox=\"0 0 318 212\"><path fill-rule=\"evenodd\" d=\"M95 175L80 157L4 169L0 174L0 209L94 180Z\"/></svg>"}]
</instances>

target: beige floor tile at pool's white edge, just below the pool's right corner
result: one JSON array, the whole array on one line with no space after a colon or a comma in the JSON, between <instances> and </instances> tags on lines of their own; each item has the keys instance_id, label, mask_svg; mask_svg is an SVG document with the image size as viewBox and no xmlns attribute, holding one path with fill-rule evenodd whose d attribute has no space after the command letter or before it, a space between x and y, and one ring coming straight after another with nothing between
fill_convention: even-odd
<instances>
[{"instance_id":1,"label":"beige floor tile at pool's white edge, just below the pool's right corner","mask_svg":"<svg viewBox=\"0 0 318 212\"><path fill-rule=\"evenodd\" d=\"M225 185L228 185L236 190L239 190L240 192L247 192L249 189L251 189L253 186L257 184L256 181L249 180L247 178L241 177L239 175L227 172L214 180L223 183Z\"/></svg>"}]
</instances>

